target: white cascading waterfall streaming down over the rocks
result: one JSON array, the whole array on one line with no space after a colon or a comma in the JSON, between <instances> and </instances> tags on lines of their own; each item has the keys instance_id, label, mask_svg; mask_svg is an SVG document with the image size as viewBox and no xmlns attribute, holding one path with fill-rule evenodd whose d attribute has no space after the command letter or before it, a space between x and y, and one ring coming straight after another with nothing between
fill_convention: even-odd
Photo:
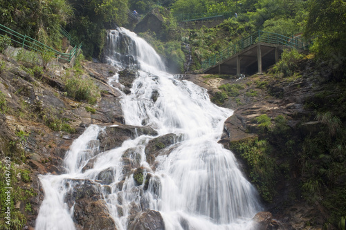
<instances>
[{"instance_id":1,"label":"white cascading waterfall streaming down over the rocks","mask_svg":"<svg viewBox=\"0 0 346 230\"><path fill-rule=\"evenodd\" d=\"M66 153L66 173L40 176L45 198L36 229L75 229L74 207L66 204L66 194L80 180L104 184L98 178L105 170L112 175L107 185L111 189L100 189L101 199L116 229L131 229L133 211L150 209L161 213L165 229L250 229L251 218L260 210L257 192L239 171L233 153L217 143L233 111L212 104L205 89L165 73L154 49L133 32L112 30L107 44L110 64L140 68L131 93L122 95L126 124L151 126L158 137L174 137L174 144L162 148L155 162L146 159L146 146L157 138L149 135L100 153L102 128L89 126ZM146 182L136 184L134 172L126 173L124 155L140 159Z\"/></svg>"}]
</instances>

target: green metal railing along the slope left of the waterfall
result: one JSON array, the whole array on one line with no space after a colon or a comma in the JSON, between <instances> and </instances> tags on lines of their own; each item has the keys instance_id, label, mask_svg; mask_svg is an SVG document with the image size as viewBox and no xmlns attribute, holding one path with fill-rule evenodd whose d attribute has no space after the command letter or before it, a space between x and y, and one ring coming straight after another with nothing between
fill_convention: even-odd
<instances>
[{"instance_id":1,"label":"green metal railing along the slope left of the waterfall","mask_svg":"<svg viewBox=\"0 0 346 230\"><path fill-rule=\"evenodd\" d=\"M68 39L71 39L71 35L69 35L66 30L62 31L62 34L66 36ZM76 45L73 47L72 50L68 53L57 51L49 46L46 46L40 41L37 41L31 37L28 37L27 35L21 35L19 32L16 32L15 30L11 30L10 28L3 26L0 24L0 36L3 37L5 35L8 35L10 37L11 41L14 42L14 44L17 44L17 46L21 46L21 48L27 48L28 50L33 50L37 52L41 52L42 55L51 54L52 56L57 57L59 60L64 60L70 62L73 57L78 55L78 52L82 48L82 43L79 45ZM72 39L70 42L73 41Z\"/></svg>"}]
</instances>

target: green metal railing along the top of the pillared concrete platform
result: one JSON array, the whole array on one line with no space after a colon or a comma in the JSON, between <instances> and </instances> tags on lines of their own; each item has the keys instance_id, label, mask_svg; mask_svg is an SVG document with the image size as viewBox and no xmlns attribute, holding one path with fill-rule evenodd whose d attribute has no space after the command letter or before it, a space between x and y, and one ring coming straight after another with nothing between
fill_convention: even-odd
<instances>
[{"instance_id":1,"label":"green metal railing along the top of the pillared concrete platform","mask_svg":"<svg viewBox=\"0 0 346 230\"><path fill-rule=\"evenodd\" d=\"M237 54L237 52L241 52L242 50L252 46L253 44L257 44L258 42L289 46L296 49L305 49L309 46L309 43L300 37L286 37L273 32L264 32L259 30L258 32L255 32L252 35L238 41L236 44L230 45L226 49L221 50L216 55L208 57L208 59L202 61L202 69L215 66L224 59L228 59L228 57L232 57L233 55Z\"/></svg>"}]
</instances>

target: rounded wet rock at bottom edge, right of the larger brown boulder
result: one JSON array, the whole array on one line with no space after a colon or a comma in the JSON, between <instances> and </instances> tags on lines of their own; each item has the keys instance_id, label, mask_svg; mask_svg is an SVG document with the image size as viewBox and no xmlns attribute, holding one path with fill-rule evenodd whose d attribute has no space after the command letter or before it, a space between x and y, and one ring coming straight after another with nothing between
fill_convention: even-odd
<instances>
[{"instance_id":1,"label":"rounded wet rock at bottom edge, right of the larger brown boulder","mask_svg":"<svg viewBox=\"0 0 346 230\"><path fill-rule=\"evenodd\" d=\"M164 230L165 223L161 213L154 210L145 211L136 216L129 224L129 230Z\"/></svg>"}]
</instances>

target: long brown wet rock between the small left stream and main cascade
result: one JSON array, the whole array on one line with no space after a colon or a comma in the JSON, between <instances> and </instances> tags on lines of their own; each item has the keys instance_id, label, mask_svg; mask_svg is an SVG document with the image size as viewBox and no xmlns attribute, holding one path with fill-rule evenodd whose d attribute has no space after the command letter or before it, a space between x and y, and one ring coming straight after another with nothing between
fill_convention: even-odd
<instances>
[{"instance_id":1,"label":"long brown wet rock between the small left stream and main cascade","mask_svg":"<svg viewBox=\"0 0 346 230\"><path fill-rule=\"evenodd\" d=\"M133 139L140 135L157 135L157 132L146 126L107 126L104 132L98 135L100 149L102 151L108 151L121 146L125 140Z\"/></svg>"}]
</instances>

